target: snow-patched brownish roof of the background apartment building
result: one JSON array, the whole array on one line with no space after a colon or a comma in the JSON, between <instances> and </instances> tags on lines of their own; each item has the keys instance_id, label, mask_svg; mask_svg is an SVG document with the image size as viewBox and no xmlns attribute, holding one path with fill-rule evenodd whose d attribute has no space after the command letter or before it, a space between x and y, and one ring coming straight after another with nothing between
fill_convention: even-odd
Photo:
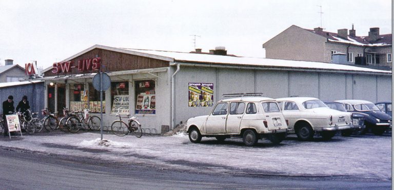
<instances>
[{"instance_id":1,"label":"snow-patched brownish roof of the background apartment building","mask_svg":"<svg viewBox=\"0 0 394 190\"><path fill-rule=\"evenodd\" d=\"M340 43L350 43L353 45L368 45L368 46L382 46L382 45L391 45L391 34L382 34L379 35L378 39L375 41L371 41L368 36L347 36L347 38L339 37L337 33L326 32L326 31L314 31L310 29L305 29L306 31L312 32L314 34L318 34L328 39L328 41L332 42L340 42Z\"/></svg>"}]
</instances>

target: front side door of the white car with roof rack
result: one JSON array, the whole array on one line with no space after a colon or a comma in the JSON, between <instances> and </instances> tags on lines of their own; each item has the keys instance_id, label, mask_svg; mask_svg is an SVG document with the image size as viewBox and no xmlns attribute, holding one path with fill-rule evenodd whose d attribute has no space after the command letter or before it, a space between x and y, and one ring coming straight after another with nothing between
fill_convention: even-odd
<instances>
[{"instance_id":1,"label":"front side door of the white car with roof rack","mask_svg":"<svg viewBox=\"0 0 394 190\"><path fill-rule=\"evenodd\" d=\"M216 104L212 113L207 118L207 122L206 122L207 134L226 133L227 110L228 110L227 102Z\"/></svg>"}]
</instances>

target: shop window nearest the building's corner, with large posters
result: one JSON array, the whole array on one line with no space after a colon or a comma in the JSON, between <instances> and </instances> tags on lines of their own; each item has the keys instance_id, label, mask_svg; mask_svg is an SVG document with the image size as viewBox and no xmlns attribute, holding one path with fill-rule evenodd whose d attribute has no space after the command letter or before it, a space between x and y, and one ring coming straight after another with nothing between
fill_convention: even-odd
<instances>
[{"instance_id":1,"label":"shop window nearest the building's corner, with large posters","mask_svg":"<svg viewBox=\"0 0 394 190\"><path fill-rule=\"evenodd\" d=\"M154 80L135 81L135 114L156 114Z\"/></svg>"}]
</instances>

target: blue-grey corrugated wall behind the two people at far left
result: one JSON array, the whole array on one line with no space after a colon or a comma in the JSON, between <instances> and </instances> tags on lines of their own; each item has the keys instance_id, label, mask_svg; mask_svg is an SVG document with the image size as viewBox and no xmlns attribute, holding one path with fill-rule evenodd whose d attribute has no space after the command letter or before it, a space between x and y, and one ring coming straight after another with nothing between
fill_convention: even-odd
<instances>
[{"instance_id":1,"label":"blue-grey corrugated wall behind the two people at far left","mask_svg":"<svg viewBox=\"0 0 394 190\"><path fill-rule=\"evenodd\" d=\"M27 96L30 107L33 112L39 112L44 109L45 87L44 82L32 83L18 86L8 86L0 88L0 102L3 103L8 99L8 96L14 97L14 106L18 105L24 95ZM3 106L0 106L0 113L3 113Z\"/></svg>"}]
</instances>

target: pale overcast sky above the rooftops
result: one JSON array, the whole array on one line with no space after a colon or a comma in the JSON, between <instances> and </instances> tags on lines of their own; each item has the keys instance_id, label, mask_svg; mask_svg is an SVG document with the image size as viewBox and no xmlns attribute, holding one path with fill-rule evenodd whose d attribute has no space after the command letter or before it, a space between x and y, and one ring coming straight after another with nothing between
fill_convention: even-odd
<instances>
[{"instance_id":1,"label":"pale overcast sky above the rooftops","mask_svg":"<svg viewBox=\"0 0 394 190\"><path fill-rule=\"evenodd\" d=\"M190 52L193 35L203 52L225 46L228 54L265 57L262 44L291 25L389 34L391 9L390 0L0 0L0 65L37 61L45 69L95 44Z\"/></svg>"}]
</instances>

